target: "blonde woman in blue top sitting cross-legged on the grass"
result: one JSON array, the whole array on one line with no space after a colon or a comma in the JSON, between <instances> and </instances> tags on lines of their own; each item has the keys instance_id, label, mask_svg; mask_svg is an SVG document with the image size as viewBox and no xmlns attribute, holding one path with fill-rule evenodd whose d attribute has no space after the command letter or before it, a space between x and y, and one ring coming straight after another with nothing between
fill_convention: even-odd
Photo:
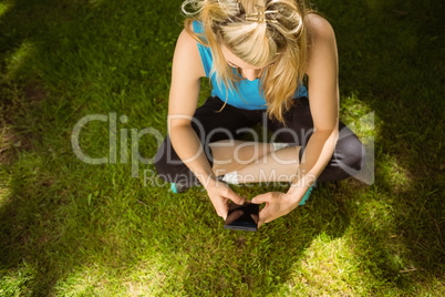
<instances>
[{"instance_id":1,"label":"blonde woman in blue top sitting cross-legged on the grass","mask_svg":"<svg viewBox=\"0 0 445 297\"><path fill-rule=\"evenodd\" d=\"M259 227L304 204L315 181L361 170L364 148L339 122L337 44L327 20L303 0L187 0L183 10L189 18L173 59L169 135L155 158L174 192L201 184L226 219L228 199L245 202L228 184L291 183L287 193L252 198L266 203ZM197 109L204 76L213 92ZM242 141L257 123L280 142Z\"/></svg>"}]
</instances>

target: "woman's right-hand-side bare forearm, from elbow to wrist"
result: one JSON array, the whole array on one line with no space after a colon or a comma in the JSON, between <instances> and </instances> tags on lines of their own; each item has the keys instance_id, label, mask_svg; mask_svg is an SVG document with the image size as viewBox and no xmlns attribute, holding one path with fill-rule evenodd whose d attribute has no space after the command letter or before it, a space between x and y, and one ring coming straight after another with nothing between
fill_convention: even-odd
<instances>
[{"instance_id":1,"label":"woman's right-hand-side bare forearm, from elbow to wrist","mask_svg":"<svg viewBox=\"0 0 445 297\"><path fill-rule=\"evenodd\" d=\"M337 139L337 130L315 131L311 135L288 194L296 198L302 197L331 160Z\"/></svg>"}]
</instances>

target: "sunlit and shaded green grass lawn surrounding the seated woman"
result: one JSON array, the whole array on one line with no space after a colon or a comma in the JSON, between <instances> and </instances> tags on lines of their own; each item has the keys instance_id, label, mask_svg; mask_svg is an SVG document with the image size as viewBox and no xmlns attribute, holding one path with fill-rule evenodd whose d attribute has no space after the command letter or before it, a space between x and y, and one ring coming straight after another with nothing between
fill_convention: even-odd
<instances>
[{"instance_id":1,"label":"sunlit and shaded green grass lawn surrounding the seated woman","mask_svg":"<svg viewBox=\"0 0 445 297\"><path fill-rule=\"evenodd\" d=\"M257 233L224 229L203 188L174 195L153 165L132 167L158 146L135 147L138 132L166 134L180 3L0 0L0 296L444 295L444 1L314 1L337 32L341 119L375 141L375 183L321 184ZM72 148L94 114L108 120L80 146L107 164Z\"/></svg>"}]
</instances>

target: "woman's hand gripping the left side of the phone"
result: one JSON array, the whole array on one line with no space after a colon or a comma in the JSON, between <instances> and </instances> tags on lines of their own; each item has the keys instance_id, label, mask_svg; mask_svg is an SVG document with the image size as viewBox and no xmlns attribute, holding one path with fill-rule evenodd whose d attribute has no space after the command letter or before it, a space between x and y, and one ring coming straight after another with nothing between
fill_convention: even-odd
<instances>
[{"instance_id":1,"label":"woman's hand gripping the left side of the phone","mask_svg":"<svg viewBox=\"0 0 445 297\"><path fill-rule=\"evenodd\" d=\"M229 199L238 205L245 203L245 198L236 194L226 183L215 181L206 187L208 197L214 204L216 213L225 221L229 212Z\"/></svg>"}]
</instances>

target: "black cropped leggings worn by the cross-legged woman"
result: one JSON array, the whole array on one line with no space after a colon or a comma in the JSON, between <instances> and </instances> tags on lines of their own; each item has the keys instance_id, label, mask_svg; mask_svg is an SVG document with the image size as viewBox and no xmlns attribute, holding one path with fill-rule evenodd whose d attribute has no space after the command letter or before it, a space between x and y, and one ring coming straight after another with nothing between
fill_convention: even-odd
<instances>
[{"instance_id":1,"label":"black cropped leggings worn by the cross-legged woman","mask_svg":"<svg viewBox=\"0 0 445 297\"><path fill-rule=\"evenodd\" d=\"M239 140L246 134L242 129L266 122L267 127L278 134L279 142L300 145L300 160L309 137L312 135L313 122L307 98L294 100L294 105L284 114L286 126L277 120L268 119L263 110L242 110L226 104L211 96L196 110L192 126L197 133L206 156L213 165L209 143L221 140ZM265 121L266 120L266 121ZM334 153L317 181L339 181L355 175L364 165L365 151L356 135L342 122L339 123L339 140ZM277 142L275 140L273 142ZM155 156L158 175L168 183L198 183L196 176L185 165L172 146L167 135Z\"/></svg>"}]
</instances>

